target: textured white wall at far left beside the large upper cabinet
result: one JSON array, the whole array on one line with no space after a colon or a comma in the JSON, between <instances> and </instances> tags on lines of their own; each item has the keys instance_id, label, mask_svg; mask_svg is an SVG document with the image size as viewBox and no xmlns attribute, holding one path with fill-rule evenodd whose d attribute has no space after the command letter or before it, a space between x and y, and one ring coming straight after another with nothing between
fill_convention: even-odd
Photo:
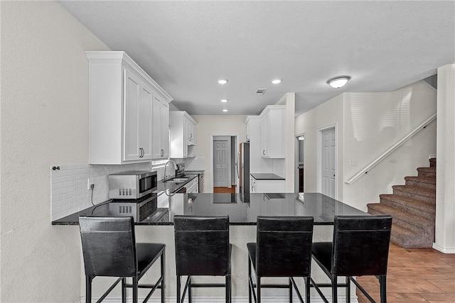
<instances>
[{"instance_id":1,"label":"textured white wall at far left beside the large upper cabinet","mask_svg":"<svg viewBox=\"0 0 455 303\"><path fill-rule=\"evenodd\" d=\"M76 226L50 225L50 166L88 159L85 50L109 50L54 1L1 1L1 302L80 297Z\"/></svg>"}]
</instances>

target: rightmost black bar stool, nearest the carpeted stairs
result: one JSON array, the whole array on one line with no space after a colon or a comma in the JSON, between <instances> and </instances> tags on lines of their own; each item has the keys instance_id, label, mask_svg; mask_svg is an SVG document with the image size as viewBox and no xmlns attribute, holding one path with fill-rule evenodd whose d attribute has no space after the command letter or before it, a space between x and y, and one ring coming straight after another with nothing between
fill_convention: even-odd
<instances>
[{"instance_id":1,"label":"rightmost black bar stool, nearest the carpeted stairs","mask_svg":"<svg viewBox=\"0 0 455 303\"><path fill-rule=\"evenodd\" d=\"M332 302L337 302L337 288L346 287L346 302L350 302L350 281L365 294L370 302L372 297L353 277L375 275L380 282L381 302L385 303L387 259L389 256L390 228L392 217L377 216L335 216L333 242L313 243L313 258L331 279L330 284L312 285L328 302L319 287L332 288ZM345 283L338 283L337 277L346 277Z\"/></svg>"}]
</instances>

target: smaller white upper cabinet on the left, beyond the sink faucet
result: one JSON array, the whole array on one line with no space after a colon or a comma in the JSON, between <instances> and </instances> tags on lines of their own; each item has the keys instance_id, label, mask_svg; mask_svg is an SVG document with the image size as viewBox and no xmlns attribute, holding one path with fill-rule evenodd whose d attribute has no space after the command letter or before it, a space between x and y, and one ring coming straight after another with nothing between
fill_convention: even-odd
<instances>
[{"instance_id":1,"label":"smaller white upper cabinet on the left, beyond the sink faucet","mask_svg":"<svg viewBox=\"0 0 455 303\"><path fill-rule=\"evenodd\" d=\"M171 158L196 157L196 121L186 111L171 111Z\"/></svg>"}]
</instances>

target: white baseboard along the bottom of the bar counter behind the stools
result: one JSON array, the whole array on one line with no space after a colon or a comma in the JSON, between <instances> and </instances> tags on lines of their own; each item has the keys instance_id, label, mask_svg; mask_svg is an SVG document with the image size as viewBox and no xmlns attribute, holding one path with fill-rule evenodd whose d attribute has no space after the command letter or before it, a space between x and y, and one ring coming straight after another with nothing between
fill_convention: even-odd
<instances>
[{"instance_id":1,"label":"white baseboard along the bottom of the bar counter behind the stools","mask_svg":"<svg viewBox=\"0 0 455 303\"><path fill-rule=\"evenodd\" d=\"M99 299L99 298L92 298L94 301ZM327 297L328 302L331 302L332 298ZM143 302L144 297L139 297L138 302ZM254 300L253 300L254 301ZM321 297L311 297L310 301L312 303L321 303L323 300ZM122 302L121 297L110 297L106 298L103 300L105 303L118 303ZM131 303L132 298L128 297L127 298L127 303ZM149 303L161 303L161 299L159 297L151 297L148 301ZM176 302L176 297L166 297L165 300L166 303L174 303ZM193 297L191 302L194 303L225 303L225 297ZM261 302L264 303L288 303L289 298L288 297L262 297ZM293 297L292 302L299 302L299 298ZM344 296L339 296L338 297L338 302L346 302L346 297ZM351 296L350 297L350 302L352 303L358 303L357 297L356 296ZM76 302L77 303L77 302ZM85 303L85 297L80 298L80 303ZM248 297L232 297L232 303L248 303Z\"/></svg>"}]
</instances>

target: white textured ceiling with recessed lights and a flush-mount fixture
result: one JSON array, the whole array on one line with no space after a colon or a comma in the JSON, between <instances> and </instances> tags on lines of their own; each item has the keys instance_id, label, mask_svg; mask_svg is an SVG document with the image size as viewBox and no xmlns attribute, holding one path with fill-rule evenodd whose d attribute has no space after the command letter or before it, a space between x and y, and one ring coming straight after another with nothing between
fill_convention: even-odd
<instances>
[{"instance_id":1,"label":"white textured ceiling with recessed lights and a flush-mount fixture","mask_svg":"<svg viewBox=\"0 0 455 303\"><path fill-rule=\"evenodd\" d=\"M178 109L210 115L259 114L286 92L296 93L301 114L341 92L387 92L434 75L455 62L454 3L61 2L109 48L126 51ZM338 75L352 79L329 87Z\"/></svg>"}]
</instances>

